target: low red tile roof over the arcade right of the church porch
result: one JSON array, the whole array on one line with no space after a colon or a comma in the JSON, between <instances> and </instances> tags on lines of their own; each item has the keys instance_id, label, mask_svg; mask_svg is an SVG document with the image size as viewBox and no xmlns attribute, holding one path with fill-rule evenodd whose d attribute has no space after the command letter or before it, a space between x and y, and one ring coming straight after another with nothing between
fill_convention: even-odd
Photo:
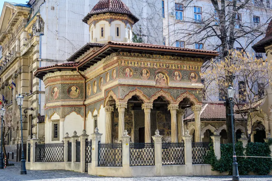
<instances>
[{"instance_id":1,"label":"low red tile roof over the arcade right of the church porch","mask_svg":"<svg viewBox=\"0 0 272 181\"><path fill-rule=\"evenodd\" d=\"M209 101L213 102L213 101ZM202 109L200 111L200 120L211 120L211 119L218 119L218 120L224 120L226 119L226 107L224 106L224 103L216 103L218 101L215 101L215 103L206 103L202 106ZM220 101L223 102L223 101ZM237 107L234 106L234 110L236 110ZM234 115L235 119L242 119L240 114ZM246 116L245 116L246 119ZM194 121L195 120L195 114L191 114L188 117L184 119L185 121Z\"/></svg>"}]
</instances>

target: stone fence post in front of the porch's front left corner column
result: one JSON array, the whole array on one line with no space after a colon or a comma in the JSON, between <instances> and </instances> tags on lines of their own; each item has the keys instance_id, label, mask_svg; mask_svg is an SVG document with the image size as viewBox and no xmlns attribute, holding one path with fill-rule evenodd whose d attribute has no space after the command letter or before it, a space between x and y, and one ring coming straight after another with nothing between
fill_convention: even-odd
<instances>
[{"instance_id":1,"label":"stone fence post in front of the porch's front left corner column","mask_svg":"<svg viewBox=\"0 0 272 181\"><path fill-rule=\"evenodd\" d=\"M129 163L129 140L130 136L128 135L127 130L124 131L124 135L122 136L122 165L124 168L124 176L131 176L130 173L130 163Z\"/></svg>"}]
</instances>

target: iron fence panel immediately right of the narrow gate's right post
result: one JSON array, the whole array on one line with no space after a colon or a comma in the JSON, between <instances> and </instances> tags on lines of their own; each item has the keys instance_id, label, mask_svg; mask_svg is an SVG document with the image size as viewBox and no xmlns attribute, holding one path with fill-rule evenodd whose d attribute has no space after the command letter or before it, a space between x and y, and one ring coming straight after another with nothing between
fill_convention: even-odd
<instances>
[{"instance_id":1,"label":"iron fence panel immediately right of the narrow gate's right post","mask_svg":"<svg viewBox=\"0 0 272 181\"><path fill-rule=\"evenodd\" d=\"M98 142L98 167L122 166L122 141L121 143Z\"/></svg>"}]
</instances>

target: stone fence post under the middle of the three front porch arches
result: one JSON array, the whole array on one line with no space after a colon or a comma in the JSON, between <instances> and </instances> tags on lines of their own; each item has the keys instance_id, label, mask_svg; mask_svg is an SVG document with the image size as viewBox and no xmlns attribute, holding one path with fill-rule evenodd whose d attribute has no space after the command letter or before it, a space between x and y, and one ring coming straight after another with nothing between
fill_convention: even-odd
<instances>
[{"instance_id":1,"label":"stone fence post under the middle of the three front porch arches","mask_svg":"<svg viewBox=\"0 0 272 181\"><path fill-rule=\"evenodd\" d=\"M163 136L159 135L159 130L155 131L155 135L152 136L154 140L154 157L155 157L155 166L156 166L156 176L162 175L162 151L161 151L161 138Z\"/></svg>"}]
</instances>

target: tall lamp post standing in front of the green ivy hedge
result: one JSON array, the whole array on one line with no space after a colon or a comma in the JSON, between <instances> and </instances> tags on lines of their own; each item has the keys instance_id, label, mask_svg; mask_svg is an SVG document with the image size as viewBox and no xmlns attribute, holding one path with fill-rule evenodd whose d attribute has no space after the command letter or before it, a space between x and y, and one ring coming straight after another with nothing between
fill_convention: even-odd
<instances>
[{"instance_id":1,"label":"tall lamp post standing in front of the green ivy hedge","mask_svg":"<svg viewBox=\"0 0 272 181\"><path fill-rule=\"evenodd\" d=\"M232 148L233 148L233 163L232 163L232 180L239 180L239 173L238 173L238 163L236 159L235 153L235 142L234 142L234 126L233 126L233 108L232 108L232 101L234 97L234 88L231 85L227 88L228 99L230 100L230 108L231 108L231 120L232 120Z\"/></svg>"}]
</instances>

